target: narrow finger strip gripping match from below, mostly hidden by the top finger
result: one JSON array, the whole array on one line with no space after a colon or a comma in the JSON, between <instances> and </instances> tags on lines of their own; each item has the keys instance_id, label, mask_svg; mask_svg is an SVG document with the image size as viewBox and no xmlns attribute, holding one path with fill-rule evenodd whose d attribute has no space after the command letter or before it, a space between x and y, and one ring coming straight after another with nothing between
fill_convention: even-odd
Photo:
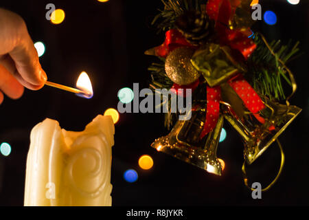
<instances>
[{"instance_id":1,"label":"narrow finger strip gripping match from below, mostly hidden by the top finger","mask_svg":"<svg viewBox=\"0 0 309 220\"><path fill-rule=\"evenodd\" d=\"M10 72L17 80L19 80L19 83L21 83L21 85L27 87L28 89L38 90L44 86L44 85L33 85L24 80L21 74L19 74L19 72L17 71L16 65L9 54L0 56L0 65L3 65L3 67L5 67L5 69L7 69L8 72Z\"/></svg>"}]
</instances>

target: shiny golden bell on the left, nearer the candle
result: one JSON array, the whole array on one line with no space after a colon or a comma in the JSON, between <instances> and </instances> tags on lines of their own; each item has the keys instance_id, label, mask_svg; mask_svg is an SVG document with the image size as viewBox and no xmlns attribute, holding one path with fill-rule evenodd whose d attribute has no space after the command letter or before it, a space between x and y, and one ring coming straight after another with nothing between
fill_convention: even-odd
<instances>
[{"instance_id":1,"label":"shiny golden bell on the left, nearer the candle","mask_svg":"<svg viewBox=\"0 0 309 220\"><path fill-rule=\"evenodd\" d=\"M189 120L177 121L168 135L159 137L151 146L209 173L221 175L222 167L216 151L224 118L220 115L214 130L201 139L205 115L205 109L192 111Z\"/></svg>"}]
</instances>

